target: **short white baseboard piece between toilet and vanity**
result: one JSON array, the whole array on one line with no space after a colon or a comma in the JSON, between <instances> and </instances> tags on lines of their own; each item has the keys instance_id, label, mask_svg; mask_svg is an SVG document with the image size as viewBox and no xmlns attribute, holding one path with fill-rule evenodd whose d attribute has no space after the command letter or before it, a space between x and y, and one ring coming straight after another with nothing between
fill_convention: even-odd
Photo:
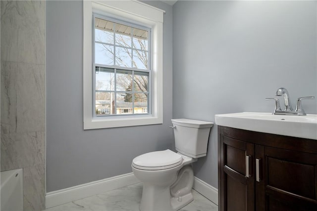
<instances>
[{"instance_id":1,"label":"short white baseboard piece between toilet and vanity","mask_svg":"<svg viewBox=\"0 0 317 211\"><path fill-rule=\"evenodd\" d=\"M214 204L218 205L218 189L215 187L197 177L194 177L193 189L205 196Z\"/></svg>"}]
</instances>

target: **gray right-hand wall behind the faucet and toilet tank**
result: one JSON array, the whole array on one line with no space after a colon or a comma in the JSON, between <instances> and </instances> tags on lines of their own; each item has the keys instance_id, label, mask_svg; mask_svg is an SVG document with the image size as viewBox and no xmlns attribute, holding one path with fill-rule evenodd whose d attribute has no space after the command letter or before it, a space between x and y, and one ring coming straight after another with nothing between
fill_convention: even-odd
<instances>
[{"instance_id":1,"label":"gray right-hand wall behind the faucet and toilet tank","mask_svg":"<svg viewBox=\"0 0 317 211\"><path fill-rule=\"evenodd\" d=\"M173 5L173 118L271 112L279 87L292 104L317 97L317 1L177 1ZM303 101L317 113L317 100ZM217 187L217 128L195 175Z\"/></svg>"}]
</instances>

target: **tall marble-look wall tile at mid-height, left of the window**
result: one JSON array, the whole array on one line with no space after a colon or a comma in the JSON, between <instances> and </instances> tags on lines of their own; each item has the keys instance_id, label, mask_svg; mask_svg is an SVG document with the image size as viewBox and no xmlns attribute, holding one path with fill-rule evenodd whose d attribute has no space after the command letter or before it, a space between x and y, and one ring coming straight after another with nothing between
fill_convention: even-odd
<instances>
[{"instance_id":1,"label":"tall marble-look wall tile at mid-height, left of the window","mask_svg":"<svg viewBox=\"0 0 317 211\"><path fill-rule=\"evenodd\" d=\"M45 131L45 65L1 62L1 132Z\"/></svg>"}]
</instances>

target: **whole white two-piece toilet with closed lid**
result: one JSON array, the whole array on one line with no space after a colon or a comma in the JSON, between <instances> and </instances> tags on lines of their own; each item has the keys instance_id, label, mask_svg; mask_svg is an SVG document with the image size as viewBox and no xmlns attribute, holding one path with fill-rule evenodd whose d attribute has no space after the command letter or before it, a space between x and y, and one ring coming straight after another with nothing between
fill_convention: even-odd
<instances>
[{"instance_id":1,"label":"whole white two-piece toilet with closed lid","mask_svg":"<svg viewBox=\"0 0 317 211\"><path fill-rule=\"evenodd\" d=\"M175 148L140 155L132 160L143 182L140 211L177 211L193 201L192 162L207 155L212 122L172 119Z\"/></svg>"}]
</instances>

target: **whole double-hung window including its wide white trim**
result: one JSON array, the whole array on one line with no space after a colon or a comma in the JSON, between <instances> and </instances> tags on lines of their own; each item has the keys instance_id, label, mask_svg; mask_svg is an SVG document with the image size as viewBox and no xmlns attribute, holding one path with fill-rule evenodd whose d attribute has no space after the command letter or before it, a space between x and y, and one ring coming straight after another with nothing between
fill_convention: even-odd
<instances>
[{"instance_id":1,"label":"whole double-hung window including its wide white trim","mask_svg":"<svg viewBox=\"0 0 317 211\"><path fill-rule=\"evenodd\" d=\"M84 1L84 129L162 123L162 10Z\"/></svg>"}]
</instances>

